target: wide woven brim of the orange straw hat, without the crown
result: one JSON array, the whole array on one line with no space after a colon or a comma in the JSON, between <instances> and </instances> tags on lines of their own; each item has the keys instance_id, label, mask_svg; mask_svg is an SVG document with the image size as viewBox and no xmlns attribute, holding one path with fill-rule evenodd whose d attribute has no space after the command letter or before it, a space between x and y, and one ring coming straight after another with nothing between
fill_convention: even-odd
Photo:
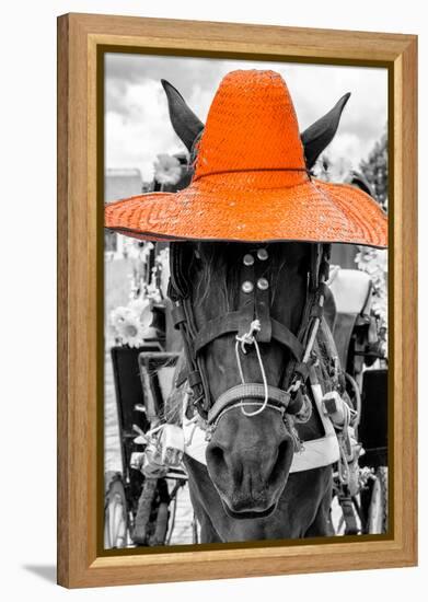
<instances>
[{"instance_id":1,"label":"wide woven brim of the orange straw hat, without the crown","mask_svg":"<svg viewBox=\"0 0 428 602\"><path fill-rule=\"evenodd\" d=\"M200 178L178 193L111 202L105 227L143 240L302 241L387 246L387 218L355 186L308 180L274 188L216 187Z\"/></svg>"}]
</instances>

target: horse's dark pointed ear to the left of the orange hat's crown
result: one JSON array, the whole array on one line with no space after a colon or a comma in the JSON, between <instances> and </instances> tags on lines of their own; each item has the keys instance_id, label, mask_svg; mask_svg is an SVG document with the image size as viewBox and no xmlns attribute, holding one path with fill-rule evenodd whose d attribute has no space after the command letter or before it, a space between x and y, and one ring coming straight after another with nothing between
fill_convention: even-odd
<instances>
[{"instance_id":1,"label":"horse's dark pointed ear to the left of the orange hat's crown","mask_svg":"<svg viewBox=\"0 0 428 602\"><path fill-rule=\"evenodd\" d=\"M166 80L161 80L161 83L166 94L172 127L186 149L190 151L195 139L204 129L204 124L187 106L178 90Z\"/></svg>"}]
</instances>

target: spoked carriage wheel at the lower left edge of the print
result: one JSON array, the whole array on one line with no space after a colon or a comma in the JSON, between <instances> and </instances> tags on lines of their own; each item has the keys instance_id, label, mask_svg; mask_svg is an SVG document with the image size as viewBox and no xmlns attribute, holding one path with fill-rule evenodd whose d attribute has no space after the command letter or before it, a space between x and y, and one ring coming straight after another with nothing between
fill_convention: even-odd
<instances>
[{"instance_id":1,"label":"spoked carriage wheel at the lower left edge of the print","mask_svg":"<svg viewBox=\"0 0 428 602\"><path fill-rule=\"evenodd\" d=\"M128 512L124 484L119 473L106 473L104 500L104 549L125 547Z\"/></svg>"}]
</instances>

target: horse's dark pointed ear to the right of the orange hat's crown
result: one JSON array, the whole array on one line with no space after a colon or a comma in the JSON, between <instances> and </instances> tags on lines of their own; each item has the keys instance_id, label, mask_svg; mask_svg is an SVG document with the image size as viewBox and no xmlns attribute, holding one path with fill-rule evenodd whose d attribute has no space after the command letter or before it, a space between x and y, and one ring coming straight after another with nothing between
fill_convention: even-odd
<instances>
[{"instance_id":1,"label":"horse's dark pointed ear to the right of the orange hat's crown","mask_svg":"<svg viewBox=\"0 0 428 602\"><path fill-rule=\"evenodd\" d=\"M342 112L350 96L350 92L342 96L324 117L312 124L301 134L306 167L311 170L323 150L331 143L339 125Z\"/></svg>"}]
</instances>

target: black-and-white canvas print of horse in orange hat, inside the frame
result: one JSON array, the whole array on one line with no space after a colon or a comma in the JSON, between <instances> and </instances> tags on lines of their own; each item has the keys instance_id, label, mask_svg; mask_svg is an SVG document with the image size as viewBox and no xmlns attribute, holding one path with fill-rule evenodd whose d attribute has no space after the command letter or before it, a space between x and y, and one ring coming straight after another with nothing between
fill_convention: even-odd
<instances>
[{"instance_id":1,"label":"black-and-white canvas print of horse in orange hat, inside the frame","mask_svg":"<svg viewBox=\"0 0 428 602\"><path fill-rule=\"evenodd\" d=\"M389 530L387 72L104 57L104 547Z\"/></svg>"}]
</instances>

